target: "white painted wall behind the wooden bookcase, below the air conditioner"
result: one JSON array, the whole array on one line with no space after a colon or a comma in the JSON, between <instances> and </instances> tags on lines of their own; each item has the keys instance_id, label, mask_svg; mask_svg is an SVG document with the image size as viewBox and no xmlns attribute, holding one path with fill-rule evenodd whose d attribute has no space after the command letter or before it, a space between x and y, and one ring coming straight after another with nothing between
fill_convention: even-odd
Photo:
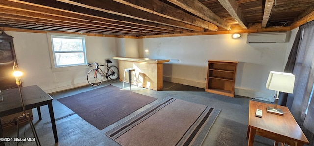
<instances>
[{"instance_id":1,"label":"white painted wall behind the wooden bookcase, below the air conditioner","mask_svg":"<svg viewBox=\"0 0 314 146\"><path fill-rule=\"evenodd\" d=\"M247 44L247 34L149 38L140 40L140 57L170 59L164 63L164 80L205 88L208 60L239 61L235 94L273 101L266 89L269 71L283 71L289 43ZM292 32L294 40L295 31Z\"/></svg>"}]
</instances>

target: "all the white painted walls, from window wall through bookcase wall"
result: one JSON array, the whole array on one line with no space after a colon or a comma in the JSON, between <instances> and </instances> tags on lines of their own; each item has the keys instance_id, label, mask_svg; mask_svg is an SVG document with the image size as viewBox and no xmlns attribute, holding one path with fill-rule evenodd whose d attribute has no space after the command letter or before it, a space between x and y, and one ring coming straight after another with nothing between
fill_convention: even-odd
<instances>
[{"instance_id":1,"label":"all the white painted walls, from window wall through bookcase wall","mask_svg":"<svg viewBox=\"0 0 314 146\"><path fill-rule=\"evenodd\" d=\"M265 87L270 70L282 71L288 59L297 29L289 43L247 44L247 34L238 40L231 35L206 35L149 39L90 37L86 39L87 59L105 63L114 56L170 59L164 63L164 80L205 88L207 60L239 61L235 94L273 100L273 91ZM38 85L48 93L87 85L91 68L52 72L47 35L6 31L13 36L19 68L25 74L23 85ZM145 51L147 50L147 52ZM118 66L117 60L112 60Z\"/></svg>"}]
</instances>

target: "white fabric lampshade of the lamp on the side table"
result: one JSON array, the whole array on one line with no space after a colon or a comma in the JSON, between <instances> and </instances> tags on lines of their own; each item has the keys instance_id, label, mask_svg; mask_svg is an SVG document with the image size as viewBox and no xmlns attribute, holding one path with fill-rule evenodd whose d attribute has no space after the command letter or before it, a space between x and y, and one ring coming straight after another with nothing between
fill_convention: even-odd
<instances>
[{"instance_id":1,"label":"white fabric lampshade of the lamp on the side table","mask_svg":"<svg viewBox=\"0 0 314 146\"><path fill-rule=\"evenodd\" d=\"M285 93L293 93L295 76L291 73L270 71L266 88Z\"/></svg>"}]
</instances>

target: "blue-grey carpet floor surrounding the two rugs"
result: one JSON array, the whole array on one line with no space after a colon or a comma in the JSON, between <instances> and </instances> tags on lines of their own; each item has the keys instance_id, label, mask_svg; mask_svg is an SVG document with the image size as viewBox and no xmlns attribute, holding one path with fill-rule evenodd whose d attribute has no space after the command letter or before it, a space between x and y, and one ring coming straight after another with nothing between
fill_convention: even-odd
<instances>
[{"instance_id":1,"label":"blue-grey carpet floor surrounding the two rugs","mask_svg":"<svg viewBox=\"0 0 314 146\"><path fill-rule=\"evenodd\" d=\"M38 120L37 109L33 109L33 123L37 130L39 140L42 146L119 146L114 140L104 133L124 121L134 117L145 109L157 104L166 97L174 97L184 101L206 105L212 108L220 109L216 121L209 130L202 146L247 146L246 132L248 125L249 101L257 100L242 96L227 97L218 94L205 92L202 88L191 87L178 83L163 83L163 90L154 91L145 88L131 86L131 91L158 98L156 101L140 108L131 115L121 119L113 125L103 130L90 125L65 105L56 99L89 91L95 88L112 84L122 88L122 82L106 81L100 86L84 86L76 89L62 91L50 94L54 99L52 101L59 143L54 143L52 126L47 106L41 107L42 120ZM125 89L129 89L125 85ZM258 100L260 101L260 100ZM262 101L266 102L266 101ZM20 134L25 137L32 137L29 125L20 128ZM16 127L12 126L4 129L4 137L16 137ZM256 136L254 146L273 146L274 141ZM19 143L20 146L34 146L34 142ZM6 146L16 146L15 142L6 142Z\"/></svg>"}]
</instances>

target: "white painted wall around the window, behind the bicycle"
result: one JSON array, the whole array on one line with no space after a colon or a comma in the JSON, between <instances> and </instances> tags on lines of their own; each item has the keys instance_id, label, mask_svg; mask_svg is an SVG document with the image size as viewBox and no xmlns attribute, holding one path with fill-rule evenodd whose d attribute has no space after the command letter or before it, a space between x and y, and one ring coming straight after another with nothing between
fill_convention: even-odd
<instances>
[{"instance_id":1,"label":"white painted wall around the window, behind the bicycle","mask_svg":"<svg viewBox=\"0 0 314 146\"><path fill-rule=\"evenodd\" d=\"M24 72L23 86L38 85L48 93L87 85L87 72L92 69L81 66L78 70L52 72L48 50L47 35L44 33L26 33L6 31L13 38L19 69ZM87 37L86 53L89 63L105 63L105 59L117 56L117 38ZM112 60L113 65L118 61Z\"/></svg>"}]
</instances>

